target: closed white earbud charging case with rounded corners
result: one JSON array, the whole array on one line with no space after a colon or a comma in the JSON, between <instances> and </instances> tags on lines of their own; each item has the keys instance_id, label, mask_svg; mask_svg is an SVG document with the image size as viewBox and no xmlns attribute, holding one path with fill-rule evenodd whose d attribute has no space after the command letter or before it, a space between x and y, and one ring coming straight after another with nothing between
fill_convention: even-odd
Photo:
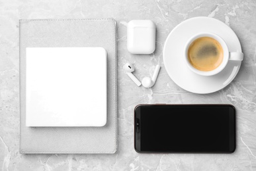
<instances>
[{"instance_id":1,"label":"closed white earbud charging case with rounded corners","mask_svg":"<svg viewBox=\"0 0 256 171\"><path fill-rule=\"evenodd\" d=\"M127 49L132 54L150 54L155 51L155 24L151 20L128 22Z\"/></svg>"}]
</instances>

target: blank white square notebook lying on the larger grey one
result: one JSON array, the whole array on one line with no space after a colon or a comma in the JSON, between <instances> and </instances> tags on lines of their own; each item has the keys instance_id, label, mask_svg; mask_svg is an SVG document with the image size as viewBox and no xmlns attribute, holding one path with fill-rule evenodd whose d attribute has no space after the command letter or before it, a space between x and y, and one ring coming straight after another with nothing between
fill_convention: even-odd
<instances>
[{"instance_id":1,"label":"blank white square notebook lying on the larger grey one","mask_svg":"<svg viewBox=\"0 0 256 171\"><path fill-rule=\"evenodd\" d=\"M104 126L106 122L105 49L26 48L26 126Z\"/></svg>"}]
</instances>

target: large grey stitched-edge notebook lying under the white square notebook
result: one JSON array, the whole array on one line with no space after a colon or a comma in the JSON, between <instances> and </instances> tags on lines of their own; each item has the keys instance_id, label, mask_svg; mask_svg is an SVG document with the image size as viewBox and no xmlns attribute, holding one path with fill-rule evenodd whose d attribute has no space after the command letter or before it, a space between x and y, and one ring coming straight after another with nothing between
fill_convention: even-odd
<instances>
[{"instance_id":1,"label":"large grey stitched-edge notebook lying under the white square notebook","mask_svg":"<svg viewBox=\"0 0 256 171\"><path fill-rule=\"evenodd\" d=\"M107 124L103 127L26 127L26 47L105 48L108 53ZM94 65L97 68L97 64ZM20 153L115 153L118 141L115 20L20 20L20 103Z\"/></svg>"}]
</instances>

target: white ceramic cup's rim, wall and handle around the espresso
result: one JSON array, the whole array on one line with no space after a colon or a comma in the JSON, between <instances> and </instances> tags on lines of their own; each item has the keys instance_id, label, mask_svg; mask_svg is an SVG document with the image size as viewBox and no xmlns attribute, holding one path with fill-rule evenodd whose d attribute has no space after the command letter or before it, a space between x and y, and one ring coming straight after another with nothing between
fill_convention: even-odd
<instances>
[{"instance_id":1,"label":"white ceramic cup's rim, wall and handle around the espresso","mask_svg":"<svg viewBox=\"0 0 256 171\"><path fill-rule=\"evenodd\" d=\"M220 45L222 46L223 60L222 60L222 63L220 64L220 66L218 66L214 70L210 70L210 71L198 70L198 69L194 68L194 66L192 66L191 62L189 62L189 57L188 57L189 46L191 45L191 43L194 40L196 40L200 37L212 37L213 39L216 39L216 41L218 41L220 43ZM204 32L204 33L200 33L200 34L196 34L195 36L192 36L189 39L189 41L187 41L187 44L185 45L184 57L185 57L185 62L187 63L187 66L192 70L192 72L199 74L201 76L213 76L215 74L218 74L226 67L226 65L228 64L228 61L243 61L243 53L230 52L228 50L228 45L226 44L224 39L222 39L220 36L218 36L216 34L212 34L209 32Z\"/></svg>"}]
</instances>

